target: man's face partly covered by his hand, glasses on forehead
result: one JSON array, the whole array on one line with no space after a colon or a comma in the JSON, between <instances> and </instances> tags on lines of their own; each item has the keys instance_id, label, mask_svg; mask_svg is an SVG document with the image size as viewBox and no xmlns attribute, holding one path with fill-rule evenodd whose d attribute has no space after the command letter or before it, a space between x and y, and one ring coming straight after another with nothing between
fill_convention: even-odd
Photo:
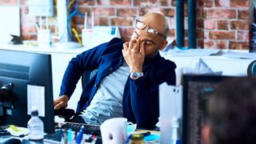
<instances>
[{"instance_id":1,"label":"man's face partly covered by his hand, glasses on forehead","mask_svg":"<svg viewBox=\"0 0 256 144\"><path fill-rule=\"evenodd\" d=\"M141 22L144 22L141 20ZM146 21L144 22L146 24ZM153 28L153 27L152 27ZM133 39L141 39L141 43L145 42L145 56L150 56L151 54L154 54L154 52L161 50L162 42L165 40L161 35L159 34L149 34L148 33L148 26L142 30L139 30L135 26L134 34L131 37L131 40Z\"/></svg>"}]
</instances>

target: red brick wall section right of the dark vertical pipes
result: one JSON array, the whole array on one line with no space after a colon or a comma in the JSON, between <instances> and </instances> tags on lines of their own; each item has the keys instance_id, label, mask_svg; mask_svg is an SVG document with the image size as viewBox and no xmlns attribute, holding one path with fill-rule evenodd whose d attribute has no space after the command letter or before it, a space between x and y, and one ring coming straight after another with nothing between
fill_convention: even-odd
<instances>
[{"instance_id":1,"label":"red brick wall section right of the dark vertical pipes","mask_svg":"<svg viewBox=\"0 0 256 144\"><path fill-rule=\"evenodd\" d=\"M249 49L249 0L201 0L204 38L198 46Z\"/></svg>"}]
</instances>

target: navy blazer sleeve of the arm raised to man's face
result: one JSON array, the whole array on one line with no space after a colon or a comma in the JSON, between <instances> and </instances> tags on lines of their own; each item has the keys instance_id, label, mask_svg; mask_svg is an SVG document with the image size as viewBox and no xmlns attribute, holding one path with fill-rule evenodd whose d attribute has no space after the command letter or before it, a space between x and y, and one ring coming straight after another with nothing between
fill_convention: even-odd
<instances>
[{"instance_id":1,"label":"navy blazer sleeve of the arm raised to man's face","mask_svg":"<svg viewBox=\"0 0 256 144\"><path fill-rule=\"evenodd\" d=\"M159 89L162 82L175 85L176 75L174 62L160 64L151 74L134 80L130 78L130 101L134 118L140 128L154 128L159 117ZM150 84L148 83L150 82Z\"/></svg>"}]
</instances>

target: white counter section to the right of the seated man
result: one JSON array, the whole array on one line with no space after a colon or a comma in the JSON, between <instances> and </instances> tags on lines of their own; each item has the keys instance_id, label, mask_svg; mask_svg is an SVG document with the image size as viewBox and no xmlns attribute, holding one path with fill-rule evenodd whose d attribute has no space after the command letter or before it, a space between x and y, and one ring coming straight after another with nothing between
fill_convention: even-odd
<instances>
[{"instance_id":1,"label":"white counter section to the right of the seated man","mask_svg":"<svg viewBox=\"0 0 256 144\"><path fill-rule=\"evenodd\" d=\"M237 52L245 53L245 50L235 50ZM180 84L181 73L184 69L194 68L198 63L199 59L206 63L207 66L210 67L214 72L222 71L222 75L228 76L246 76L247 75L247 67L250 62L254 61L251 58L231 58L222 56L206 56L202 55L193 55L193 56L180 56L179 54L162 54L164 58L170 59L170 61L175 62L177 65L176 75L177 75L177 84ZM256 56L256 55L255 55ZM256 57L255 57L256 59Z\"/></svg>"}]
</instances>

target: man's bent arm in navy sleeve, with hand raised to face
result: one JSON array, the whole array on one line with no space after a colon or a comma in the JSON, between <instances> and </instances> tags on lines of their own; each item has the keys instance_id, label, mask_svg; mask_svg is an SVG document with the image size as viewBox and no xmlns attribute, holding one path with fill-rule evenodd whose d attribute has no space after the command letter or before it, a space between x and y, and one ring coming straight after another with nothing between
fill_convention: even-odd
<instances>
[{"instance_id":1,"label":"man's bent arm in navy sleeve, with hand raised to face","mask_svg":"<svg viewBox=\"0 0 256 144\"><path fill-rule=\"evenodd\" d=\"M145 58L145 41L140 38L133 39L123 44L122 54L130 67L130 74L134 72L141 73ZM134 117L139 127L153 127L158 122L159 104L158 104L158 86L162 82L169 85L175 85L175 65L174 63L159 63L158 74L151 74L150 87L146 83L144 76L140 78L130 78L130 101Z\"/></svg>"}]
</instances>

